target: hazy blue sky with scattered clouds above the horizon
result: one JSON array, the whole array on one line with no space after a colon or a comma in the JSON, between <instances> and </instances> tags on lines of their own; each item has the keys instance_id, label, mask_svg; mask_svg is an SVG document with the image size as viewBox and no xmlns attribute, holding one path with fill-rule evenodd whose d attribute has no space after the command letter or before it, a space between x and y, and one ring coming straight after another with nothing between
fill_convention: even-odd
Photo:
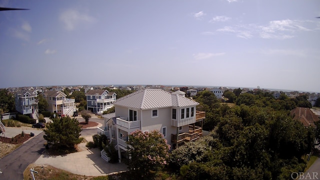
<instances>
[{"instance_id":1,"label":"hazy blue sky with scattered clouds above the horizon","mask_svg":"<svg viewBox=\"0 0 320 180\"><path fill-rule=\"evenodd\" d=\"M0 88L320 92L319 0L0 0Z\"/></svg>"}]
</instances>

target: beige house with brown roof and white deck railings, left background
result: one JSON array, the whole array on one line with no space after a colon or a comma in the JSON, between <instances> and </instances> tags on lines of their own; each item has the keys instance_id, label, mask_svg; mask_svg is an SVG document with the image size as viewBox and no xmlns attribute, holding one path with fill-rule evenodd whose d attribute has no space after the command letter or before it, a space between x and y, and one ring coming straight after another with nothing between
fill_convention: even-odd
<instances>
[{"instance_id":1,"label":"beige house with brown roof and white deck railings, left background","mask_svg":"<svg viewBox=\"0 0 320 180\"><path fill-rule=\"evenodd\" d=\"M61 91L46 91L43 95L48 103L48 111L51 113L72 116L76 111L74 99L66 98L66 95Z\"/></svg>"}]
</instances>

